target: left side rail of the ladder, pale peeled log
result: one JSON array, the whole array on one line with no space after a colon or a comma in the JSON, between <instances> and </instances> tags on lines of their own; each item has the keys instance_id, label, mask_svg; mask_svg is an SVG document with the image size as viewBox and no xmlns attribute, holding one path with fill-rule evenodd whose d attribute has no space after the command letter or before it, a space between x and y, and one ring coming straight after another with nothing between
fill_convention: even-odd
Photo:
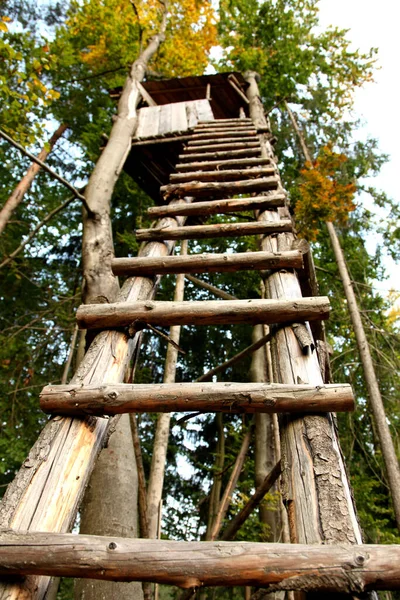
<instances>
[{"instance_id":1,"label":"left side rail of the ladder, pale peeled log","mask_svg":"<svg viewBox=\"0 0 400 600\"><path fill-rule=\"evenodd\" d=\"M182 225L183 222L181 218L163 220L167 226L172 223ZM173 247L169 242L146 244L142 255L162 257L170 254ZM155 288L152 279L131 278L125 282L119 298L130 301L150 299ZM139 339L140 336L131 339L121 331L101 332L92 342L73 383L123 381ZM68 531L74 523L96 457L107 439L109 423L109 419L94 417L52 419L7 488L0 506L0 527ZM22 584L0 582L0 598L39 600L49 585L47 577L28 578Z\"/></svg>"}]
</instances>

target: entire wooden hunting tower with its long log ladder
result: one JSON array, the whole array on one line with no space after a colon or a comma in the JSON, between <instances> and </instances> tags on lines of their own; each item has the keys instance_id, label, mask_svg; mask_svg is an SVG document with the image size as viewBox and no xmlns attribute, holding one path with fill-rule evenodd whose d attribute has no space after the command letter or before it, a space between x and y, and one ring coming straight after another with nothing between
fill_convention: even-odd
<instances>
[{"instance_id":1,"label":"entire wooden hunting tower with its long log ladder","mask_svg":"<svg viewBox=\"0 0 400 600\"><path fill-rule=\"evenodd\" d=\"M296 238L256 74L147 82L141 94L125 169L155 200L149 212L158 221L136 232L143 242L137 258L113 260L114 273L127 277L119 301L79 308L79 326L100 333L72 382L42 391L41 407L54 417L0 512L3 529L12 530L1 535L0 572L14 577L3 579L0 598L45 598L59 576L254 586L294 590L296 598L398 588L400 549L362 545L332 414L353 410L353 394L330 381L321 325L329 300L318 295L309 247ZM250 222L206 223L210 215L250 210ZM259 251L173 255L178 240L242 235L258 236ZM260 272L262 298L153 300L163 274L240 270ZM122 383L146 325L233 323L263 326L252 351L265 350L268 381ZM221 542L217 530L209 542L69 534L108 417L192 410L279 414L281 459L267 484L281 474L288 543Z\"/></svg>"}]
</instances>

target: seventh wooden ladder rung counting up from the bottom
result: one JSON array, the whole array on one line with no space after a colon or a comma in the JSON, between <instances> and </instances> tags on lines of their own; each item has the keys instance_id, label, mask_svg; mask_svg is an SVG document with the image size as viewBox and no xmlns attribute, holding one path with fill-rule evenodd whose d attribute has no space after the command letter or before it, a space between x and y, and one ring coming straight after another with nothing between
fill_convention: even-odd
<instances>
[{"instance_id":1,"label":"seventh wooden ladder rung counting up from the bottom","mask_svg":"<svg viewBox=\"0 0 400 600\"><path fill-rule=\"evenodd\" d=\"M171 198L182 198L184 196L194 196L202 198L204 196L226 196L227 194L250 194L252 192L267 192L276 190L278 179L276 177L262 177L260 179L242 179L239 181L219 181L219 182L192 182L187 183L169 183L160 188L161 194L165 200Z\"/></svg>"}]
</instances>

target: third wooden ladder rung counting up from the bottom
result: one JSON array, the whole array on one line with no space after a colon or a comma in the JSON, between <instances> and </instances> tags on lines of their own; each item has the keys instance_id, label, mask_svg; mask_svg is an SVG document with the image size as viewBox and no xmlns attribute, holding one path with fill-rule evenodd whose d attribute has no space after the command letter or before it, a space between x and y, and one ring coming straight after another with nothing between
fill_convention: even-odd
<instances>
[{"instance_id":1,"label":"third wooden ladder rung counting up from the bottom","mask_svg":"<svg viewBox=\"0 0 400 600\"><path fill-rule=\"evenodd\" d=\"M150 325L220 325L234 323L290 323L327 319L329 300L283 298L279 300L150 301L81 304L76 319L81 329L128 327L135 321Z\"/></svg>"}]
</instances>

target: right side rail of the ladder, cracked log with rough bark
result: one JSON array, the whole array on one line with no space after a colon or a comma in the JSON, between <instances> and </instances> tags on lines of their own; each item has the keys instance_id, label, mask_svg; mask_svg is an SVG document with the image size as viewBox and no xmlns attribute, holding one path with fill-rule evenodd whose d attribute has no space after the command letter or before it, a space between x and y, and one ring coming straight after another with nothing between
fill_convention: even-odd
<instances>
[{"instance_id":1,"label":"right side rail of the ladder, cracked log with rough bark","mask_svg":"<svg viewBox=\"0 0 400 600\"><path fill-rule=\"evenodd\" d=\"M268 126L259 97L256 74L247 74L250 113L254 123ZM262 134L264 158L274 161L268 135ZM275 162L275 161L274 161ZM278 170L277 176L279 177ZM281 184L278 189L281 188ZM275 222L287 209L260 212L259 221ZM292 233L265 236L261 248L277 251L293 246ZM265 279L266 296L279 299L302 296L297 275L275 271ZM316 352L302 353L293 329L282 327L271 340L274 380L281 383L307 382L320 385L321 369ZM288 509L293 543L360 544L361 530L344 468L331 415L283 417L281 425L283 495ZM305 443L305 440L307 442Z\"/></svg>"}]
</instances>

